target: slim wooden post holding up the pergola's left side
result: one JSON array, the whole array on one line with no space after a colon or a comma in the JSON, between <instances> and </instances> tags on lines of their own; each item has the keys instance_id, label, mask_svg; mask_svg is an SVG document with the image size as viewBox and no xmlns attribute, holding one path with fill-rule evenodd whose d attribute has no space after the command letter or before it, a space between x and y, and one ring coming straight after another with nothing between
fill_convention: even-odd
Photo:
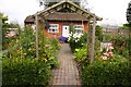
<instances>
[{"instance_id":1,"label":"slim wooden post holding up the pergola's left side","mask_svg":"<svg viewBox=\"0 0 131 87\"><path fill-rule=\"evenodd\" d=\"M36 24L36 33L35 33L35 37L36 37L36 58L38 59L38 15L37 15L37 13L35 15L35 24Z\"/></svg>"}]
</instances>

